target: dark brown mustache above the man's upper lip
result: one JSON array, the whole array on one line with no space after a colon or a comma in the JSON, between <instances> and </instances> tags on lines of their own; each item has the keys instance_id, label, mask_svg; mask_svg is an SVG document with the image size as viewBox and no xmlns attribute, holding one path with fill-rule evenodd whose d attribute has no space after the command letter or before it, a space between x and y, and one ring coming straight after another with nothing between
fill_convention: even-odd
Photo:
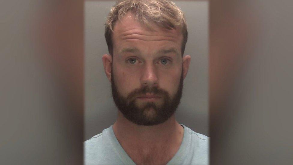
<instances>
[{"instance_id":1,"label":"dark brown mustache above the man's upper lip","mask_svg":"<svg viewBox=\"0 0 293 165\"><path fill-rule=\"evenodd\" d=\"M159 95L159 96L163 96L163 97L170 97L169 93L167 91L162 90L158 87L151 87L150 88L148 86L144 86L139 89L135 89L131 93L129 93L127 96L127 99L134 100L137 96L145 95L146 93L151 93L151 94L155 94L155 95Z\"/></svg>"}]
</instances>

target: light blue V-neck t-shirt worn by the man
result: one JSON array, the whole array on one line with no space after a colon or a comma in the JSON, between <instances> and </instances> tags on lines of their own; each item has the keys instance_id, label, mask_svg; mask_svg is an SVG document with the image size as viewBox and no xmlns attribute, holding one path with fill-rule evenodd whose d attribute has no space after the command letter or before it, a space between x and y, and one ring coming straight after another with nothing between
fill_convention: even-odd
<instances>
[{"instance_id":1,"label":"light blue V-neck t-shirt worn by the man","mask_svg":"<svg viewBox=\"0 0 293 165\"><path fill-rule=\"evenodd\" d=\"M209 164L209 137L181 125L182 143L167 164ZM119 144L112 127L84 142L84 164L135 164Z\"/></svg>"}]
</instances>

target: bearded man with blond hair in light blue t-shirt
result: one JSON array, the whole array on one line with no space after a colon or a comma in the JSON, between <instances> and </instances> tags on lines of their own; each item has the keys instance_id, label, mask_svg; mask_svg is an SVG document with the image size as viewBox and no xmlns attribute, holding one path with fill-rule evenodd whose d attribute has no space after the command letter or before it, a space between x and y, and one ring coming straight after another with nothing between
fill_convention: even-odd
<instances>
[{"instance_id":1,"label":"bearded man with blond hair in light blue t-shirt","mask_svg":"<svg viewBox=\"0 0 293 165\"><path fill-rule=\"evenodd\" d=\"M208 137L175 120L190 56L183 12L166 0L121 0L102 57L118 118L84 143L85 164L208 164Z\"/></svg>"}]
</instances>

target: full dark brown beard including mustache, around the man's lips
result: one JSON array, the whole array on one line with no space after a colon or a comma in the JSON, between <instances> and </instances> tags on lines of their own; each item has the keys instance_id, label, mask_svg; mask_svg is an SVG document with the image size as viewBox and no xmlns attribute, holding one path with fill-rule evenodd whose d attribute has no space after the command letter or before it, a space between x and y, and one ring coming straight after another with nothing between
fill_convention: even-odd
<instances>
[{"instance_id":1,"label":"full dark brown beard including mustache, around the man's lips","mask_svg":"<svg viewBox=\"0 0 293 165\"><path fill-rule=\"evenodd\" d=\"M126 119L137 125L152 126L161 124L167 121L175 113L180 104L183 89L183 69L177 92L173 98L171 98L166 90L158 87L150 88L148 86L135 89L124 97L118 92L114 82L113 72L111 76L111 88L113 100ZM163 99L163 103L161 105L156 105L155 102L146 102L142 107L139 107L136 104L136 99L138 96L145 95L146 93L160 96Z\"/></svg>"}]
</instances>

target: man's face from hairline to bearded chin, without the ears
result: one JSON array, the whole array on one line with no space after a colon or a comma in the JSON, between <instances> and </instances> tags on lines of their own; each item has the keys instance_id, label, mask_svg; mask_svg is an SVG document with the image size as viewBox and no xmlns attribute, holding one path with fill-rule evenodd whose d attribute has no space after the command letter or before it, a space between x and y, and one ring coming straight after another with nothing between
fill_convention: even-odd
<instances>
[{"instance_id":1,"label":"man's face from hairline to bearded chin, without the ears","mask_svg":"<svg viewBox=\"0 0 293 165\"><path fill-rule=\"evenodd\" d=\"M112 94L129 121L156 125L170 118L183 88L179 29L147 29L127 14L113 29Z\"/></svg>"}]
</instances>

